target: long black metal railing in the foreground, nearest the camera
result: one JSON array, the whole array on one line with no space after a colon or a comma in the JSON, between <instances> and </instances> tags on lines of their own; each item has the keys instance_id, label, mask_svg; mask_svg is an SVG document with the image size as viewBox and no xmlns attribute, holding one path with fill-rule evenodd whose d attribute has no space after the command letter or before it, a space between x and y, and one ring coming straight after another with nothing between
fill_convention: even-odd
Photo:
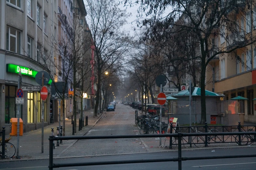
<instances>
[{"instance_id":1,"label":"long black metal railing in the foreground, nearest the camera","mask_svg":"<svg viewBox=\"0 0 256 170\"><path fill-rule=\"evenodd\" d=\"M202 159L221 159L221 158L244 158L244 157L256 157L256 154L247 155L226 155L226 156L200 156L200 157L182 157L181 153L181 140L182 137L186 136L207 136L209 133L174 133L174 134L156 134L156 135L99 135L99 136L49 136L49 170L59 167L70 167L70 166L89 166L89 165L107 165L107 164L124 164L124 163L149 163L149 162L177 162L179 170L182 167L182 161L187 160L202 160ZM211 135L239 135L241 142L242 135L256 135L256 132L218 132L212 133ZM122 160L122 161L100 161L100 162L81 162L81 163L53 163L53 141L55 140L84 140L84 139L117 139L117 138L140 138L140 137L170 137L178 138L178 157L176 158L158 158L158 159L139 159L139 160ZM170 142L171 144L171 142Z\"/></svg>"}]
</instances>

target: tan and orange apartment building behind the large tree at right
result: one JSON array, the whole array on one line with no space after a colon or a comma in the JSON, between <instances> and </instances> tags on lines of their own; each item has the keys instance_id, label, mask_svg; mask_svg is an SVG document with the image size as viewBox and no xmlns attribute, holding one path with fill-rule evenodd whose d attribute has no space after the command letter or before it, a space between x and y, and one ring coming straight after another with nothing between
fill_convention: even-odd
<instances>
[{"instance_id":1,"label":"tan and orange apartment building behind the large tree at right","mask_svg":"<svg viewBox=\"0 0 256 170\"><path fill-rule=\"evenodd\" d=\"M240 1L239 1L240 2ZM232 49L246 39L255 37L256 33L256 9L252 13L246 7L244 1L239 4L243 12L230 13L236 18L237 30L240 37L232 34L224 27L216 31L222 31L224 36L213 35L212 42L217 48ZM252 22L251 22L252 21ZM238 59L238 60L237 60ZM240 61L239 61L240 60ZM217 55L208 65L206 81L213 80L214 83L206 85L207 90L214 89L216 93L225 95L223 100L230 100L236 96L242 96L248 100L240 101L236 110L229 111L229 114L245 113L245 121L256 122L256 47L248 45L236 49L230 53Z\"/></svg>"}]
</instances>

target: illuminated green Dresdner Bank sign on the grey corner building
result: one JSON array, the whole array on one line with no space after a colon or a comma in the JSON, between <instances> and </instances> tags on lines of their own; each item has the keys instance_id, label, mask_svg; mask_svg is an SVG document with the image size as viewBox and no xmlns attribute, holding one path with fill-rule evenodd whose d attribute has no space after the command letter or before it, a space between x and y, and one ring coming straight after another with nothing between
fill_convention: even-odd
<instances>
[{"instance_id":1,"label":"illuminated green Dresdner Bank sign on the grey corner building","mask_svg":"<svg viewBox=\"0 0 256 170\"><path fill-rule=\"evenodd\" d=\"M36 74L38 73L38 71L32 70L24 66L15 65L15 64L6 64L6 72L19 74L20 71L22 75L30 76L33 78L35 78ZM51 83L52 83L52 80L50 80L48 84L51 84Z\"/></svg>"}]
</instances>

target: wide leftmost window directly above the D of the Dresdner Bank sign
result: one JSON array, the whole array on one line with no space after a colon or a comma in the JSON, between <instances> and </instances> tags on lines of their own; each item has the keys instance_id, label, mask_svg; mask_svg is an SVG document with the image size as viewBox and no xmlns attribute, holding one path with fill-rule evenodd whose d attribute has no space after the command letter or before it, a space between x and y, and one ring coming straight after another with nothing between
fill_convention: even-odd
<instances>
[{"instance_id":1,"label":"wide leftmost window directly above the D of the Dresdner Bank sign","mask_svg":"<svg viewBox=\"0 0 256 170\"><path fill-rule=\"evenodd\" d=\"M21 53L21 32L6 27L6 50Z\"/></svg>"}]
</instances>

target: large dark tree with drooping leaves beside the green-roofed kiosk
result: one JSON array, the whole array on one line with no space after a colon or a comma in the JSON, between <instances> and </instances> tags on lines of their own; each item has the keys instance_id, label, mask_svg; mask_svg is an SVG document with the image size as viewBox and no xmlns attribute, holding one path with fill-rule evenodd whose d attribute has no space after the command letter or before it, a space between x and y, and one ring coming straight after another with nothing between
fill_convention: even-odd
<instances>
[{"instance_id":1,"label":"large dark tree with drooping leaves beside the green-roofed kiosk","mask_svg":"<svg viewBox=\"0 0 256 170\"><path fill-rule=\"evenodd\" d=\"M128 5L128 0L125 2ZM252 27L255 25L252 19L255 11L252 7L255 6L255 1L129 0L129 5L134 2L140 3L139 13L149 17L149 19L142 19L138 24L138 26L148 28L145 32L146 39L150 37L153 41L159 41L163 36L170 37L184 30L196 35L195 46L199 49L199 55L187 60L200 60L201 123L204 123L206 121L205 73L207 65L217 55L223 56L225 53L230 53L230 56L244 64L236 52L243 50L241 48L252 50L252 45L255 45L256 35L252 34ZM244 15L246 17L241 17ZM212 41L215 37L219 37L220 44L215 45ZM224 42L226 45L221 45ZM250 60L253 58L252 52L250 58Z\"/></svg>"}]
</instances>

